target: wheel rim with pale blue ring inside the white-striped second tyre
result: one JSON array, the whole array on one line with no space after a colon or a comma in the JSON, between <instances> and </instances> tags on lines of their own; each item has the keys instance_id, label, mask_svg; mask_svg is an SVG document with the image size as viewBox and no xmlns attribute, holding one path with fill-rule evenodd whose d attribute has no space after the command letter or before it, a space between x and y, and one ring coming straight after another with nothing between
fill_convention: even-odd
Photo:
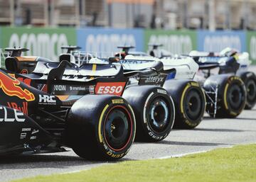
<instances>
[{"instance_id":1,"label":"wheel rim with pale blue ring inside the white-striped second tyre","mask_svg":"<svg viewBox=\"0 0 256 182\"><path fill-rule=\"evenodd\" d=\"M149 125L155 132L162 132L169 125L169 109L166 101L155 98L149 105Z\"/></svg>"}]
</instances>

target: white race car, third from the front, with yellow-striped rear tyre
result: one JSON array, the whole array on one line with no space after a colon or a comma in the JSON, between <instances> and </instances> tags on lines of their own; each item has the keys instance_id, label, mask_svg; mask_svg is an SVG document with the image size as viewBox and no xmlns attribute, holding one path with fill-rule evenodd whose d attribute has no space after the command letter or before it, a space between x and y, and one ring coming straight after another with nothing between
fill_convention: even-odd
<instances>
[{"instance_id":1,"label":"white race car, third from the front, with yellow-striped rear tyre","mask_svg":"<svg viewBox=\"0 0 256 182\"><path fill-rule=\"evenodd\" d=\"M162 84L169 95L174 99L174 106L176 110L176 118L174 121L174 127L176 128L194 128L203 118L203 113L206 108L206 98L203 90L196 81L193 81L193 76L198 70L198 64L188 57L188 59L182 59L175 57L174 59L157 59L151 56L143 55L142 52L133 52L132 55L127 53L127 50L131 47L121 47L126 52L117 53L115 55L119 59L117 62L111 62L111 64L122 64L124 70L131 72L137 70L142 65L149 65L152 62L161 61L164 64L164 70L175 69L176 72L172 72L166 78L156 76L151 80L161 80ZM109 59L93 57L90 54L90 59L87 59L87 54L83 54L86 59L79 62L89 62L91 64L110 64ZM124 57L124 58L122 58ZM145 66L144 66L145 67ZM138 78L138 77L137 77ZM149 79L147 80L150 81ZM136 79L130 79L130 86L136 86L141 84Z\"/></svg>"}]
</instances>

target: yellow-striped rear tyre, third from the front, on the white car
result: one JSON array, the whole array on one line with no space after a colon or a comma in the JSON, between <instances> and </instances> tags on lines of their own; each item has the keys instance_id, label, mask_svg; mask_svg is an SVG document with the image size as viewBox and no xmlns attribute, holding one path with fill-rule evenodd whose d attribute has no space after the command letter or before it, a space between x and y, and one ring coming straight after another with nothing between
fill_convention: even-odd
<instances>
[{"instance_id":1,"label":"yellow-striped rear tyre, third from the front, on the white car","mask_svg":"<svg viewBox=\"0 0 256 182\"><path fill-rule=\"evenodd\" d=\"M164 89L174 99L174 128L192 129L201 123L206 110L206 97L198 82L168 80L164 83Z\"/></svg>"}]
</instances>

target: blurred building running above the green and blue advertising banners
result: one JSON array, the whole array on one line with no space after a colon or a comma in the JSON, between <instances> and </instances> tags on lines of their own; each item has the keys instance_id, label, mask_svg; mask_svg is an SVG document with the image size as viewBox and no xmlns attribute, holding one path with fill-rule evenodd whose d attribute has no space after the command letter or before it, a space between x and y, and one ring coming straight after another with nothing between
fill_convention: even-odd
<instances>
[{"instance_id":1,"label":"blurred building running above the green and blue advertising banners","mask_svg":"<svg viewBox=\"0 0 256 182\"><path fill-rule=\"evenodd\" d=\"M256 29L256 0L0 0L0 25Z\"/></svg>"}]
</instances>

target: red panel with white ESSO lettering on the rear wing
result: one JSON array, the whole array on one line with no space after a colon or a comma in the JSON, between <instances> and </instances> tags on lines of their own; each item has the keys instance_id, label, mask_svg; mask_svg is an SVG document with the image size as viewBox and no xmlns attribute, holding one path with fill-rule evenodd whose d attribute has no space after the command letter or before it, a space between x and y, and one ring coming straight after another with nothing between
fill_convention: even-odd
<instances>
[{"instance_id":1,"label":"red panel with white ESSO lettering on the rear wing","mask_svg":"<svg viewBox=\"0 0 256 182\"><path fill-rule=\"evenodd\" d=\"M125 82L100 82L95 86L95 93L122 96L125 84Z\"/></svg>"}]
</instances>

